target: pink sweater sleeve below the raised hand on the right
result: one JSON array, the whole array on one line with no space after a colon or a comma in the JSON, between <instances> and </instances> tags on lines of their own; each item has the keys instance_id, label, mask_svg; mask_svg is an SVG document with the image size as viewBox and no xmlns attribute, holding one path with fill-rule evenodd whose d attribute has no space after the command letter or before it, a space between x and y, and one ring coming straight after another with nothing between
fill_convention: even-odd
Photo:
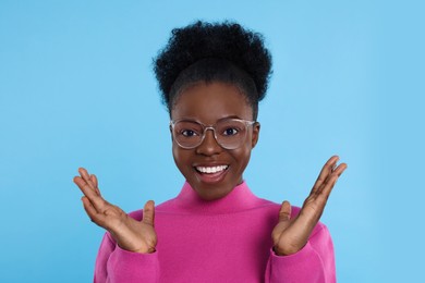
<instances>
[{"instance_id":1,"label":"pink sweater sleeve below the raised hand on the right","mask_svg":"<svg viewBox=\"0 0 425 283\"><path fill-rule=\"evenodd\" d=\"M333 244L328 229L319 223L307 244L296 254L277 256L270 249L266 282L335 283Z\"/></svg>"}]
</instances>

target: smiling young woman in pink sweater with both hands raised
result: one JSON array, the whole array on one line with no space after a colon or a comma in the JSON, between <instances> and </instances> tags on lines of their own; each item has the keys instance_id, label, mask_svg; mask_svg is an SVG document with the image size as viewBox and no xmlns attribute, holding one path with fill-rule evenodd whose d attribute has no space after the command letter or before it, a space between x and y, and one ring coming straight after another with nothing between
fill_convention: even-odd
<instances>
[{"instance_id":1,"label":"smiling young woman in pink sweater with both hands raised","mask_svg":"<svg viewBox=\"0 0 425 283\"><path fill-rule=\"evenodd\" d=\"M260 199L243 179L270 70L262 36L238 24L173 29L155 72L186 182L175 198L126 214L101 197L95 175L78 170L84 209L107 230L95 282L336 281L319 218L347 164L330 158L302 208Z\"/></svg>"}]
</instances>

